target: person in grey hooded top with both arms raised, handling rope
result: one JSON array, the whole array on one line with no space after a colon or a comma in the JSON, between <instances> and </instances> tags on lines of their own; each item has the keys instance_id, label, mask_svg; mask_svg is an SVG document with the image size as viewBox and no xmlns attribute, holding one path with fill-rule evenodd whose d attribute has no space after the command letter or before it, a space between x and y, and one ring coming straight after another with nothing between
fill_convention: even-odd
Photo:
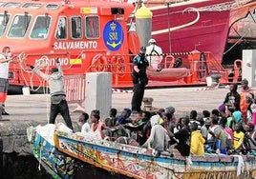
<instances>
[{"instance_id":1,"label":"person in grey hooded top with both arms raised, handling rope","mask_svg":"<svg viewBox=\"0 0 256 179\"><path fill-rule=\"evenodd\" d=\"M57 68L52 69L51 75L43 73L41 70L38 70L31 65L30 67L35 73L44 78L49 84L51 95L51 110L49 123L54 124L57 114L60 113L68 128L73 129L69 106L66 101L66 93L64 90L64 75L58 59L55 62Z\"/></svg>"}]
</instances>

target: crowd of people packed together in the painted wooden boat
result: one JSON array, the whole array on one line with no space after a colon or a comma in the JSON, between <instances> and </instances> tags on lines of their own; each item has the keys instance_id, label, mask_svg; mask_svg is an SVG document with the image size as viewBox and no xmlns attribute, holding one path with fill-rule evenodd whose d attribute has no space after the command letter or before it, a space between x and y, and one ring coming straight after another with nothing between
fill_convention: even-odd
<instances>
[{"instance_id":1,"label":"crowd of people packed together in the painted wooden boat","mask_svg":"<svg viewBox=\"0 0 256 179\"><path fill-rule=\"evenodd\" d=\"M256 154L254 114L256 98L242 81L229 86L224 103L216 109L197 111L176 118L175 108L156 111L110 109L109 117L100 119L100 111L92 110L90 116L82 113L79 123L82 133L91 133L103 140L151 148L158 151L178 149L182 156L217 154Z\"/></svg>"}]
</instances>

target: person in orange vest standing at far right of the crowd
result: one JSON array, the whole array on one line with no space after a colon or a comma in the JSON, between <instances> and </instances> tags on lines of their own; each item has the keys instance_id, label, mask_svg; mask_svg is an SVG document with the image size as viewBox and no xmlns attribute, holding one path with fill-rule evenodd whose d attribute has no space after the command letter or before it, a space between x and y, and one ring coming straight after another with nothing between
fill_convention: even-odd
<instances>
[{"instance_id":1,"label":"person in orange vest standing at far right of the crowd","mask_svg":"<svg viewBox=\"0 0 256 179\"><path fill-rule=\"evenodd\" d=\"M246 113L249 106L249 103L246 102L246 94L251 93L253 95L253 91L248 87L248 81L243 79L241 82L242 89L240 92L240 110L242 112L242 117L246 122Z\"/></svg>"}]
</instances>

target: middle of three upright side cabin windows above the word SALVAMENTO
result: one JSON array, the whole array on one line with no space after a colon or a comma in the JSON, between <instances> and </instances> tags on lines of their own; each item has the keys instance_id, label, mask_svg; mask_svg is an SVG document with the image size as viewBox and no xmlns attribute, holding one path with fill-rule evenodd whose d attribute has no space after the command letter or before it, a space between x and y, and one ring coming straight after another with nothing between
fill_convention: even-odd
<instances>
[{"instance_id":1,"label":"middle of three upright side cabin windows above the word SALVAMENTO","mask_svg":"<svg viewBox=\"0 0 256 179\"><path fill-rule=\"evenodd\" d=\"M71 17L71 36L74 39L80 39L82 37L82 19L81 17Z\"/></svg>"}]
</instances>

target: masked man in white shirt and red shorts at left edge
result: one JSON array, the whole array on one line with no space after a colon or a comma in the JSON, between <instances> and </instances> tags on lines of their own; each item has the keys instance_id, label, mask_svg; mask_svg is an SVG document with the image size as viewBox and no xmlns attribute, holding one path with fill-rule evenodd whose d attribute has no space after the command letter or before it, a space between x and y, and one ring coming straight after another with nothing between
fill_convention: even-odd
<instances>
[{"instance_id":1,"label":"masked man in white shirt and red shorts at left edge","mask_svg":"<svg viewBox=\"0 0 256 179\"><path fill-rule=\"evenodd\" d=\"M0 120L3 120L2 115L5 115L4 105L7 99L8 93L8 73L9 64L11 62L11 48L4 47L0 54Z\"/></svg>"}]
</instances>

